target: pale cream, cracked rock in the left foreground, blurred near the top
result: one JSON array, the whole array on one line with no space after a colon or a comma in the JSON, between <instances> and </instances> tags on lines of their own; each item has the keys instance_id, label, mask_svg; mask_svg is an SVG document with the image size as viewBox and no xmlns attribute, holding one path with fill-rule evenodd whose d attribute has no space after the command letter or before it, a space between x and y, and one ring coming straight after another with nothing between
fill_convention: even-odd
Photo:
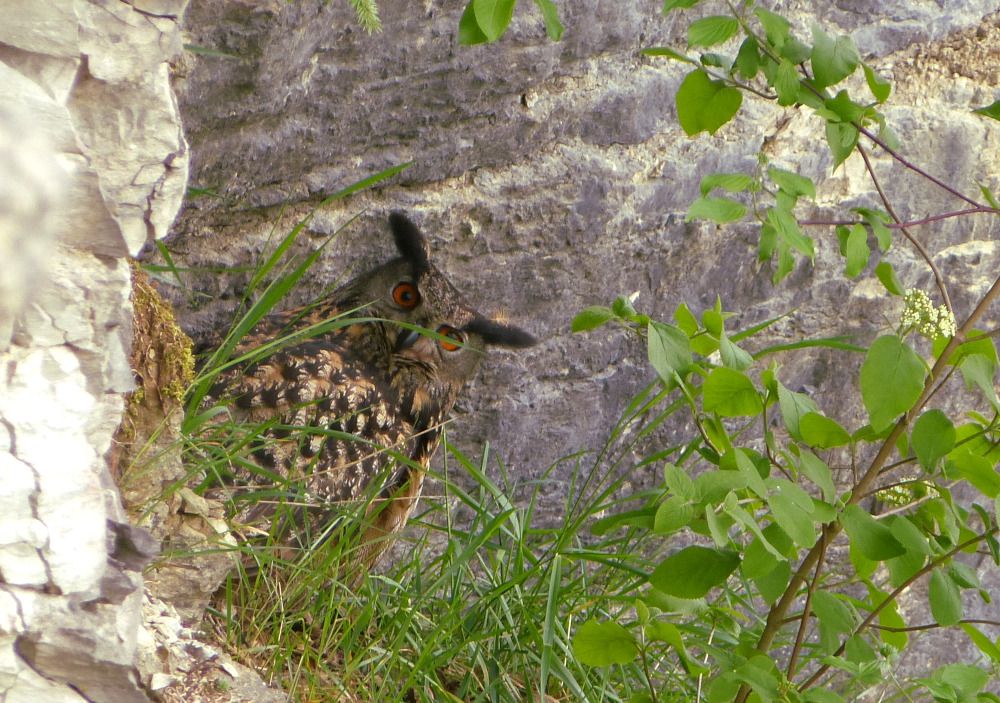
<instances>
[{"instance_id":1,"label":"pale cream, cracked rock in the left foreground, blurred near the top","mask_svg":"<svg viewBox=\"0 0 1000 703\"><path fill-rule=\"evenodd\" d=\"M129 266L187 181L186 0L0 2L0 700L146 701L142 568L106 455Z\"/></svg>"}]
</instances>

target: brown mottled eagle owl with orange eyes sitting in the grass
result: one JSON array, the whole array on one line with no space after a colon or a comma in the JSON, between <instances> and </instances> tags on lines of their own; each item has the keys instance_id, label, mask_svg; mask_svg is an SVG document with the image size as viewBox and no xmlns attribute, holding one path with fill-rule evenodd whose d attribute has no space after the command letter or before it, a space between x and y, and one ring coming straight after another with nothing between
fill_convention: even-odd
<instances>
[{"instance_id":1,"label":"brown mottled eagle owl with orange eyes sitting in the grass","mask_svg":"<svg viewBox=\"0 0 1000 703\"><path fill-rule=\"evenodd\" d=\"M416 506L442 424L485 348L535 343L467 305L406 216L393 213L389 226L397 258L265 318L237 351L335 319L332 329L228 369L209 392L261 428L235 479L266 499L238 520L273 529L283 506L284 543L306 546L353 506L364 525L352 561L366 567Z\"/></svg>"}]
</instances>

